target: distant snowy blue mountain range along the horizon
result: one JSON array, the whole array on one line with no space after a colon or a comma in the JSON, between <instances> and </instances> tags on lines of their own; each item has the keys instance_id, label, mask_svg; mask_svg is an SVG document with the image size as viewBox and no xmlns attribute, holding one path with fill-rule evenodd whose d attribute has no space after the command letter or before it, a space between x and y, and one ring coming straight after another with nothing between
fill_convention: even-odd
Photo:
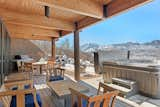
<instances>
[{"instance_id":1,"label":"distant snowy blue mountain range along the horizon","mask_svg":"<svg viewBox=\"0 0 160 107\"><path fill-rule=\"evenodd\" d=\"M122 44L113 44L113 45L98 45L96 43L87 43L81 45L81 51L83 52L94 52L99 50L113 50L113 49L120 49L120 50L153 50L153 49L160 49L160 40L154 40L151 42L146 43L134 43L134 42L127 42Z\"/></svg>"}]
</instances>

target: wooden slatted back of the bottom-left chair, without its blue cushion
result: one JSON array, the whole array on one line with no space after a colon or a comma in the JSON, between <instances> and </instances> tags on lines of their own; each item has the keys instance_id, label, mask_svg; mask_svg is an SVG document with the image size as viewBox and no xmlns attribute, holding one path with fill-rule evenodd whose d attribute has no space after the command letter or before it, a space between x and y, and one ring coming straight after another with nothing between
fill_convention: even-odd
<instances>
[{"instance_id":1,"label":"wooden slatted back of the bottom-left chair, without its blue cushion","mask_svg":"<svg viewBox=\"0 0 160 107\"><path fill-rule=\"evenodd\" d=\"M30 88L25 89L26 85L29 85ZM17 89L12 90L13 87L17 87ZM33 88L33 82L31 80L3 84L0 92L0 100L4 107L10 107L11 96L16 96L16 106L25 107L25 94L32 94L35 107L39 107L36 100L36 89Z\"/></svg>"}]
</instances>

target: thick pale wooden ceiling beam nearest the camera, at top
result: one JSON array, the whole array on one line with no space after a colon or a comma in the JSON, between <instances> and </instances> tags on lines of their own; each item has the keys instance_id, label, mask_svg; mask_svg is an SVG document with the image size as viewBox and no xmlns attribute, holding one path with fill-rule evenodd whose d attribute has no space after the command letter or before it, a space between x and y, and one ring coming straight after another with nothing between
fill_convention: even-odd
<instances>
[{"instance_id":1,"label":"thick pale wooden ceiling beam nearest the camera, at top","mask_svg":"<svg viewBox=\"0 0 160 107\"><path fill-rule=\"evenodd\" d=\"M43 6L50 6L80 15L103 18L103 7L94 0L37 0Z\"/></svg>"}]
</instances>

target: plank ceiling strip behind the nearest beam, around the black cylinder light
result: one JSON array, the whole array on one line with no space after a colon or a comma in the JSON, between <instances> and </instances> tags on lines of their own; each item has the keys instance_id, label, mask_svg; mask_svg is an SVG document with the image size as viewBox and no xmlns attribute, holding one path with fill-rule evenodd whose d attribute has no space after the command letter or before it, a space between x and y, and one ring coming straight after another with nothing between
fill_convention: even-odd
<instances>
[{"instance_id":1,"label":"plank ceiling strip behind the nearest beam, around the black cylinder light","mask_svg":"<svg viewBox=\"0 0 160 107\"><path fill-rule=\"evenodd\" d=\"M35 1L14 0L13 2L12 0L0 0L0 6L11 11L44 16L44 6L37 4ZM51 7L50 17L75 22L85 16Z\"/></svg>"}]
</instances>

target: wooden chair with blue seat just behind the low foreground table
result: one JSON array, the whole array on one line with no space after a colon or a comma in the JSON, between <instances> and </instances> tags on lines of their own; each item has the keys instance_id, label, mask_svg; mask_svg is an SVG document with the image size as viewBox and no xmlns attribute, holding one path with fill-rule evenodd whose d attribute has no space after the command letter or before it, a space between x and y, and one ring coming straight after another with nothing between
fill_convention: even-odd
<instances>
[{"instance_id":1,"label":"wooden chair with blue seat just behind the low foreground table","mask_svg":"<svg viewBox=\"0 0 160 107\"><path fill-rule=\"evenodd\" d=\"M47 81L58 81L64 80L64 72L65 69L62 68L55 68L53 61L48 61L48 72L47 72Z\"/></svg>"}]
</instances>

